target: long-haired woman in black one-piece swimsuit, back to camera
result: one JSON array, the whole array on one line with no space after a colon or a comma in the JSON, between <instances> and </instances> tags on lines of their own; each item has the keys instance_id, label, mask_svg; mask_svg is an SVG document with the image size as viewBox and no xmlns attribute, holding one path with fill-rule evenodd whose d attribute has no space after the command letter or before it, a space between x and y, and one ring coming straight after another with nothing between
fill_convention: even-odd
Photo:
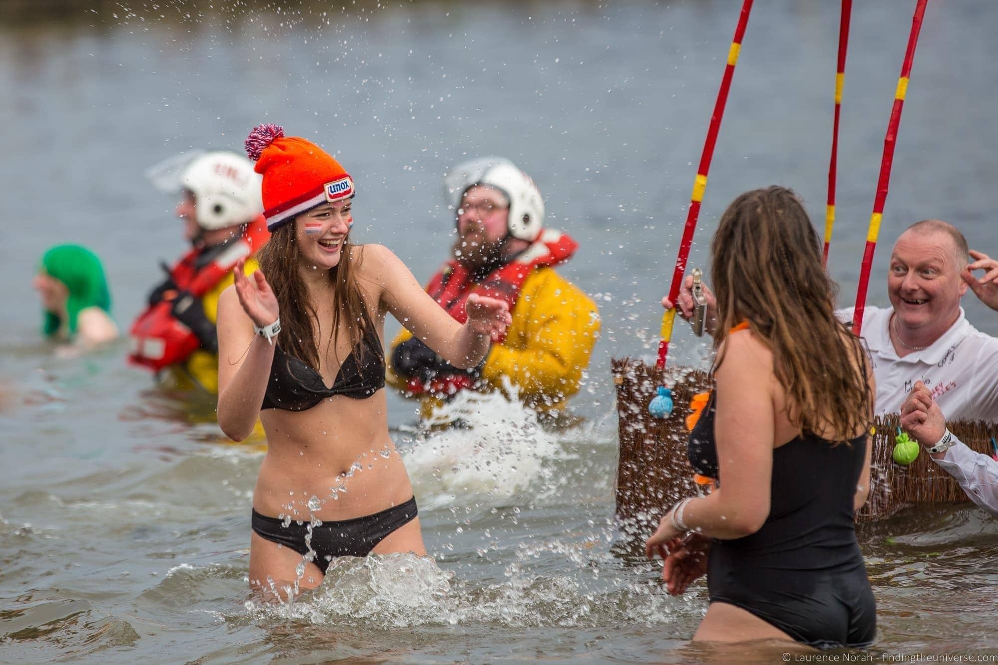
<instances>
[{"instance_id":1,"label":"long-haired woman in black one-piece swimsuit, back to camera","mask_svg":"<svg viewBox=\"0 0 998 665\"><path fill-rule=\"evenodd\" d=\"M754 190L725 211L711 254L716 387L689 454L718 485L677 503L648 555L674 594L707 574L695 640L869 645L876 607L853 514L869 491L873 376L835 319L817 233L792 192ZM689 318L688 288L677 305Z\"/></svg>"}]
</instances>

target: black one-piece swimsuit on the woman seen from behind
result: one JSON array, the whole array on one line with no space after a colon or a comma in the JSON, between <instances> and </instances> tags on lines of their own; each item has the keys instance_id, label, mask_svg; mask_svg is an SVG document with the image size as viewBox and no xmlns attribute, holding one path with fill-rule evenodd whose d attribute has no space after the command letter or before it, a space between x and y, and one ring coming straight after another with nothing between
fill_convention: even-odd
<instances>
[{"instance_id":1,"label":"black one-piece swimsuit on the woman seen from behind","mask_svg":"<svg viewBox=\"0 0 998 665\"><path fill-rule=\"evenodd\" d=\"M694 470L718 478L711 403L690 433ZM866 436L832 445L797 436L772 452L769 516L744 538L715 539L708 556L711 602L741 607L818 648L865 647L876 605L856 541L853 500Z\"/></svg>"}]
</instances>

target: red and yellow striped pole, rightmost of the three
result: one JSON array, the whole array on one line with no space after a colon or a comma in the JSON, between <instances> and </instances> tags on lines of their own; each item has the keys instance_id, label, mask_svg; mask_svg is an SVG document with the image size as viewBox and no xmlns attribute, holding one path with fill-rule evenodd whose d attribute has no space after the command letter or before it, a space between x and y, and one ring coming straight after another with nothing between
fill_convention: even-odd
<instances>
[{"instance_id":1,"label":"red and yellow striped pole, rightmost of the three","mask_svg":"<svg viewBox=\"0 0 998 665\"><path fill-rule=\"evenodd\" d=\"M887 136L883 140L883 158L880 160L880 177L877 180L876 196L873 199L873 214L870 216L869 231L866 233L866 250L863 252L863 263L859 271L859 288L856 290L856 307L852 312L852 332L859 334L863 323L863 310L866 308L866 288L869 286L870 269L873 266L873 252L876 250L876 239L880 234L880 220L883 217L883 204L887 200L887 186L890 182L890 167L894 160L894 144L897 139L897 128L901 124L901 109L904 108L904 96L908 91L908 78L911 76L911 63L915 59L915 45L918 44L918 33L922 29L922 17L925 15L925 5L928 0L918 0L915 14L911 19L911 34L908 36L908 49L904 53L901 64L901 77L897 80L897 91L894 93L894 106L887 122Z\"/></svg>"}]
</instances>

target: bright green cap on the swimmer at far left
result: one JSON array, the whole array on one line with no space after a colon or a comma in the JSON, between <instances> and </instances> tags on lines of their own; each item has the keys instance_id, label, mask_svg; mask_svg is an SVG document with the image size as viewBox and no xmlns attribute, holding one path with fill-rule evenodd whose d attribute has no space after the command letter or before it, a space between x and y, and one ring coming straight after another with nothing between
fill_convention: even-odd
<instances>
[{"instance_id":1,"label":"bright green cap on the swimmer at far left","mask_svg":"<svg viewBox=\"0 0 998 665\"><path fill-rule=\"evenodd\" d=\"M79 245L60 245L45 253L41 269L59 280L69 289L69 332L76 333L77 317L87 308L100 308L111 313L111 294L104 279L101 260L93 252ZM45 311L43 330L47 335L59 332L59 315Z\"/></svg>"}]
</instances>

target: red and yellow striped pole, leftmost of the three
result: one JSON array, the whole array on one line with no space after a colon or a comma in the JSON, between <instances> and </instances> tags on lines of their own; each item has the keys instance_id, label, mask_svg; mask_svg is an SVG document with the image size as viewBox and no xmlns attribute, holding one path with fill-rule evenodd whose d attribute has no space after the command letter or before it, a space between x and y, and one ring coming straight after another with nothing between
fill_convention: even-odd
<instances>
[{"instance_id":1,"label":"red and yellow striped pole, leftmost of the three","mask_svg":"<svg viewBox=\"0 0 998 665\"><path fill-rule=\"evenodd\" d=\"M725 65L725 75L721 79L721 90L718 91L718 101L714 105L711 124L707 130L707 141L704 152L697 167L697 177L694 179L693 195L690 197L690 210L687 212L686 226L683 228L683 239L680 241L680 251L676 258L676 269L673 271L673 283L669 287L669 301L675 306L679 299L680 287L683 285L683 274L686 272L687 260L690 258L690 247L693 245L693 233L697 229L697 218L700 217L700 203L704 200L704 190L707 188L707 172L711 169L711 158L714 157L714 146L718 141L718 131L721 129L721 119L725 115L725 103L728 101L728 91L732 87L732 75L735 74L735 64L739 60L742 49L742 36L749 24L749 12L752 0L742 3L742 13L735 28L735 37L728 51L728 64ZM669 310L662 317L662 333L659 341L660 368L666 366L666 355L669 353L669 340L673 336L673 324L676 321L676 308Z\"/></svg>"}]
</instances>

